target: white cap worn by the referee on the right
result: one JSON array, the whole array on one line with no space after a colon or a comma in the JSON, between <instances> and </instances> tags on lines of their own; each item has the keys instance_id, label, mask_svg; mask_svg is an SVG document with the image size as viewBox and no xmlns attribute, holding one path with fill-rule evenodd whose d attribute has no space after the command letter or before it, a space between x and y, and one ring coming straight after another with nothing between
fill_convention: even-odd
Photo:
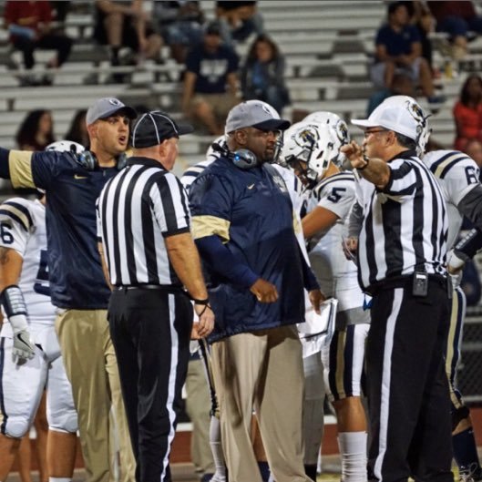
<instances>
[{"instance_id":1,"label":"white cap worn by the referee on the right","mask_svg":"<svg viewBox=\"0 0 482 482\"><path fill-rule=\"evenodd\" d=\"M423 109L415 98L408 96L387 97L367 119L354 118L352 124L361 128L387 128L407 138L417 140L421 125L426 120Z\"/></svg>"}]
</instances>

